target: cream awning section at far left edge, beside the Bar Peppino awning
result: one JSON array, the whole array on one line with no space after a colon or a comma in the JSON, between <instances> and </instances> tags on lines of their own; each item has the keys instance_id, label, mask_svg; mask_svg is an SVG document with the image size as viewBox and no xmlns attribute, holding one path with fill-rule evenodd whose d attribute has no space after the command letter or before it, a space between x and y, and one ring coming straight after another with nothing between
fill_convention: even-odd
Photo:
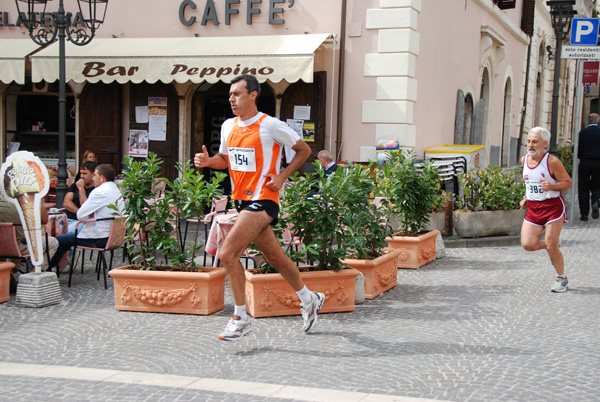
<instances>
[{"instance_id":1,"label":"cream awning section at far left edge, beside the Bar Peppino awning","mask_svg":"<svg viewBox=\"0 0 600 402\"><path fill-rule=\"evenodd\" d=\"M0 82L25 84L25 58L39 47L31 39L0 39Z\"/></svg>"}]
</instances>

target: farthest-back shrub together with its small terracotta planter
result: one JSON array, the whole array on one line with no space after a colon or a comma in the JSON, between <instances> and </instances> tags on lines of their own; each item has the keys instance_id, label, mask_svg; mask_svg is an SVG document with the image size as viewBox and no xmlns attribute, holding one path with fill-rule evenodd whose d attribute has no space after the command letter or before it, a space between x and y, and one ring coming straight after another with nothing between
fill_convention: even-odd
<instances>
[{"instance_id":1,"label":"farthest-back shrub together with its small terracotta planter","mask_svg":"<svg viewBox=\"0 0 600 402\"><path fill-rule=\"evenodd\" d=\"M387 242L400 249L398 268L419 268L435 260L439 230L427 230L435 206L440 203L437 168L424 161L419 168L412 151L393 152L382 166L377 194L389 199L398 231Z\"/></svg>"}]
</instances>

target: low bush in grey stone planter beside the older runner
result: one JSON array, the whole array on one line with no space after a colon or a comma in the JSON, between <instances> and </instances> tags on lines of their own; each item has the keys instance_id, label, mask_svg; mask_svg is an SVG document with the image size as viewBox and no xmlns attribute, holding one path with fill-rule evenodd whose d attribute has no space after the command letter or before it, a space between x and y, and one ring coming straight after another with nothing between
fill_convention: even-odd
<instances>
[{"instance_id":1,"label":"low bush in grey stone planter beside the older runner","mask_svg":"<svg viewBox=\"0 0 600 402\"><path fill-rule=\"evenodd\" d=\"M461 237L516 235L521 232L525 210L519 202L525 184L518 168L505 171L489 165L470 169L458 177L454 230Z\"/></svg>"}]
</instances>

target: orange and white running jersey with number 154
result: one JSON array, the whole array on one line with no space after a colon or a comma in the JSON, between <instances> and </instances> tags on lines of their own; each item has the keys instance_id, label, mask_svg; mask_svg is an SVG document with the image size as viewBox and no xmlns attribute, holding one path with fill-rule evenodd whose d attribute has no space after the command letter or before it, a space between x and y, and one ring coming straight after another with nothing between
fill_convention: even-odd
<instances>
[{"instance_id":1,"label":"orange and white running jersey with number 154","mask_svg":"<svg viewBox=\"0 0 600 402\"><path fill-rule=\"evenodd\" d=\"M281 149L293 147L300 136L279 119L259 112L249 120L234 117L221 126L219 153L229 157L234 200L271 200L279 192L267 188L267 173L279 174Z\"/></svg>"}]
</instances>

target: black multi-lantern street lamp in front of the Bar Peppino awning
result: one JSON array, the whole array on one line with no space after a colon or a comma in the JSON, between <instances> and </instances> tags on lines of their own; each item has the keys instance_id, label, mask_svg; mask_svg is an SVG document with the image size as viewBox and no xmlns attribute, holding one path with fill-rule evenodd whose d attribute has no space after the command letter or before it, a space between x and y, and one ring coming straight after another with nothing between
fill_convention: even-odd
<instances>
[{"instance_id":1,"label":"black multi-lantern street lamp in front of the Bar Peppino awning","mask_svg":"<svg viewBox=\"0 0 600 402\"><path fill-rule=\"evenodd\" d=\"M65 95L65 41L69 40L75 45L84 46L90 43L96 30L104 22L108 0L77 0L81 18L71 21L72 13L65 13L63 0L58 2L58 11L46 12L46 5L52 0L15 0L19 17L29 36L38 45L49 45L58 37L58 185L56 187L56 206L61 208L67 193L67 97ZM27 3L27 11L21 12L19 2ZM83 4L82 4L83 3ZM100 5L99 7L97 7ZM42 8L43 7L43 8ZM40 8L42 10L40 11ZM102 10L103 9L103 10ZM84 12L85 11L85 12ZM52 24L47 18L52 15ZM81 27L83 25L84 27ZM79 26L79 27L78 27ZM89 30L89 33L87 30Z\"/></svg>"}]
</instances>

